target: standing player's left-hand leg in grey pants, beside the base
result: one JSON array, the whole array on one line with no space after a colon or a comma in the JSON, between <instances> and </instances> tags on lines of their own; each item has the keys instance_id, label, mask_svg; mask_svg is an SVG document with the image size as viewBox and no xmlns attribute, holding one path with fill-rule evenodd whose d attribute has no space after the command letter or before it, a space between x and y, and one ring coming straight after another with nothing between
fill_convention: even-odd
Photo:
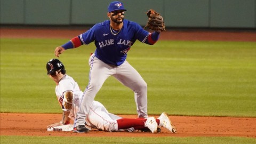
<instances>
[{"instance_id":1,"label":"standing player's left-hand leg in grey pants, beside the base","mask_svg":"<svg viewBox=\"0 0 256 144\"><path fill-rule=\"evenodd\" d=\"M84 91L74 127L78 125L85 125L85 118L89 113L90 106L92 105L95 95L98 93L106 79L114 73L113 68L106 65L106 63L96 57L91 57L90 66L89 84Z\"/></svg>"}]
</instances>

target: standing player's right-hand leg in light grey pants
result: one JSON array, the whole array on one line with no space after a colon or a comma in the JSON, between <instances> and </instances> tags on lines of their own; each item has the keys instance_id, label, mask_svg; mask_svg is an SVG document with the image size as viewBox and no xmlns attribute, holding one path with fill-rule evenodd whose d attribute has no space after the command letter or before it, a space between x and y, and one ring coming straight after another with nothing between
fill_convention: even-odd
<instances>
[{"instance_id":1,"label":"standing player's right-hand leg in light grey pants","mask_svg":"<svg viewBox=\"0 0 256 144\"><path fill-rule=\"evenodd\" d=\"M129 62L125 61L117 68L117 74L113 75L119 82L124 84L134 92L134 99L137 105L139 117L148 117L147 114L147 83L140 76Z\"/></svg>"}]
</instances>

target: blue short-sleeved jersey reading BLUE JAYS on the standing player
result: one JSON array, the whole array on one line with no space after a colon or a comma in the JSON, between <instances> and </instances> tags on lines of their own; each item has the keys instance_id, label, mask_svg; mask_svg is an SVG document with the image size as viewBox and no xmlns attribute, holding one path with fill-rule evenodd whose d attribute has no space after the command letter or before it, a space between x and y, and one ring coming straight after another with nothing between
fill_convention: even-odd
<instances>
[{"instance_id":1,"label":"blue short-sleeved jersey reading BLUE JAYS on the standing player","mask_svg":"<svg viewBox=\"0 0 256 144\"><path fill-rule=\"evenodd\" d=\"M78 37L86 45L94 41L97 47L95 57L110 65L120 66L135 41L138 39L145 43L149 34L138 23L124 19L123 27L116 35L111 33L110 20L106 20L95 24Z\"/></svg>"}]
</instances>

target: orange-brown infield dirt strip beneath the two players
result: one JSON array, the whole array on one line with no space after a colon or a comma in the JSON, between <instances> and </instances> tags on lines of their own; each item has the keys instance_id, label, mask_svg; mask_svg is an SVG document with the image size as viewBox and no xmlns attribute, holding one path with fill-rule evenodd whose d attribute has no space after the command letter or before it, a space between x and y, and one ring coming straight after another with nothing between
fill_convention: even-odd
<instances>
[{"instance_id":1,"label":"orange-brown infield dirt strip beneath the two players","mask_svg":"<svg viewBox=\"0 0 256 144\"><path fill-rule=\"evenodd\" d=\"M119 115L137 118L134 115ZM189 117L169 116L177 133L162 127L160 133L103 132L93 129L89 133L46 131L47 125L60 121L61 114L1 113L1 135L77 136L77 137L252 137L256 138L256 118L242 117ZM158 116L155 116L156 118Z\"/></svg>"}]
</instances>

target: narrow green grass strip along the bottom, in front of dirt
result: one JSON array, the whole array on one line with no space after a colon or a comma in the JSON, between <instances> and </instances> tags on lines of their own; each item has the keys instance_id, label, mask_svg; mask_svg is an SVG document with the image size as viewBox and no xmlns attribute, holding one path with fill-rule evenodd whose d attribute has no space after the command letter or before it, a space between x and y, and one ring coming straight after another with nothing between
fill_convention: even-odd
<instances>
[{"instance_id":1,"label":"narrow green grass strip along the bottom, in front of dirt","mask_svg":"<svg viewBox=\"0 0 256 144\"><path fill-rule=\"evenodd\" d=\"M195 138L177 138L177 137L21 137L21 136L2 136L1 143L214 143L214 144L249 144L255 143L253 138L239 137L195 137Z\"/></svg>"}]
</instances>

